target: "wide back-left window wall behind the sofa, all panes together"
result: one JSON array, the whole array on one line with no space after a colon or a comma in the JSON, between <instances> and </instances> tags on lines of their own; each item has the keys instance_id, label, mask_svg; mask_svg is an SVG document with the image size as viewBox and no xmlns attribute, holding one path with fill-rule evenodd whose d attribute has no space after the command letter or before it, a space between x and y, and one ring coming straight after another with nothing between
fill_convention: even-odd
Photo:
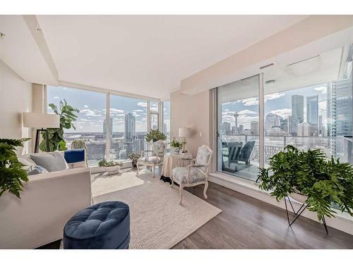
<instances>
[{"instance_id":1,"label":"wide back-left window wall behind the sofa, all panes together","mask_svg":"<svg viewBox=\"0 0 353 264\"><path fill-rule=\"evenodd\" d=\"M90 166L97 165L102 158L127 161L129 154L146 149L145 134L148 131L160 129L159 101L119 96L109 92L48 86L48 103L59 106L59 102L64 99L71 106L80 109L74 122L76 130L64 130L66 146L71 149L73 140L83 139L88 147ZM51 108L48 111L51 112ZM165 122L169 127L169 119ZM108 137L109 142L106 140Z\"/></svg>"}]
</instances>

